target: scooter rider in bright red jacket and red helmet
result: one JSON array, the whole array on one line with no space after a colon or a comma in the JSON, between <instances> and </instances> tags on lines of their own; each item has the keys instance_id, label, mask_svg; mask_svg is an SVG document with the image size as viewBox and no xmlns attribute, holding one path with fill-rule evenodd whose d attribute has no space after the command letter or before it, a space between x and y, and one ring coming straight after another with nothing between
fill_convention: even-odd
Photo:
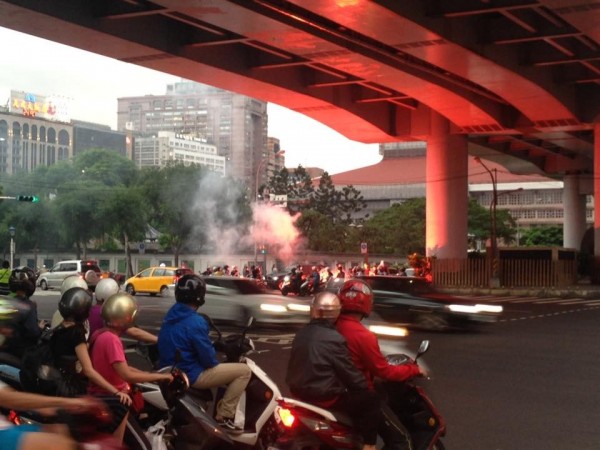
<instances>
[{"instance_id":1,"label":"scooter rider in bright red jacket and red helmet","mask_svg":"<svg viewBox=\"0 0 600 450\"><path fill-rule=\"evenodd\" d=\"M361 323L373 309L373 291L367 283L358 279L347 280L338 296L342 311L336 322L336 329L346 338L352 362L364 374L369 389L375 389L375 377L387 381L405 381L426 375L416 364L390 365L381 354L377 336ZM410 449L408 432L392 410L383 404L382 413L379 434L385 441L386 448Z\"/></svg>"}]
</instances>

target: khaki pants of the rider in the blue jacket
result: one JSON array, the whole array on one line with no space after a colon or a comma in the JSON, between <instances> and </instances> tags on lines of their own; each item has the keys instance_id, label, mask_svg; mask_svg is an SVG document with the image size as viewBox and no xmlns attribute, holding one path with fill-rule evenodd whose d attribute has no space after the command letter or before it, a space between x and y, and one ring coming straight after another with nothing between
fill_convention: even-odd
<instances>
[{"instance_id":1,"label":"khaki pants of the rider in the blue jacket","mask_svg":"<svg viewBox=\"0 0 600 450\"><path fill-rule=\"evenodd\" d=\"M225 395L217 404L217 419L235 417L235 409L251 375L250 367L242 363L222 363L206 369L192 387L208 389L227 385Z\"/></svg>"}]
</instances>

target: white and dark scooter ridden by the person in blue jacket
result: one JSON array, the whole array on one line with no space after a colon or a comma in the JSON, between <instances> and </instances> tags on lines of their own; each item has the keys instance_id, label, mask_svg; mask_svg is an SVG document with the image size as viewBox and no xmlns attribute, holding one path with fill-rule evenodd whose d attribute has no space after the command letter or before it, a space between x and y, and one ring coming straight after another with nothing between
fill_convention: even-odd
<instances>
[{"instance_id":1,"label":"white and dark scooter ridden by the person in blue jacket","mask_svg":"<svg viewBox=\"0 0 600 450\"><path fill-rule=\"evenodd\" d=\"M243 428L239 434L229 435L234 448L262 448L271 446L277 436L277 424L274 411L281 392L273 380L250 358L247 354L254 351L254 343L246 336L254 319L250 318L241 333L223 336L213 321L203 315L212 330L217 335L213 345L217 352L224 354L225 362L243 362L250 368L252 375L246 390L242 394L235 415L235 424ZM165 410L161 392L154 383L140 383L146 404L157 410ZM190 401L201 408L211 418L215 415L218 401L224 393L223 388L218 389L190 389L187 391Z\"/></svg>"}]
</instances>

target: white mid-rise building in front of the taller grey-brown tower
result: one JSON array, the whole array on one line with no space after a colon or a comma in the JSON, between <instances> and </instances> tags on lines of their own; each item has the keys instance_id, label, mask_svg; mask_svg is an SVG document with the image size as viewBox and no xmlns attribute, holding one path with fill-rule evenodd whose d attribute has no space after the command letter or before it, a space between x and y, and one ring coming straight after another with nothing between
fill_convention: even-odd
<instances>
[{"instance_id":1,"label":"white mid-rise building in front of the taller grey-brown tower","mask_svg":"<svg viewBox=\"0 0 600 450\"><path fill-rule=\"evenodd\" d=\"M217 155L217 147L205 139L179 135L172 131L159 131L158 136L137 138L134 141L136 166L165 166L169 161L199 164L213 172L225 175L225 157Z\"/></svg>"}]
</instances>

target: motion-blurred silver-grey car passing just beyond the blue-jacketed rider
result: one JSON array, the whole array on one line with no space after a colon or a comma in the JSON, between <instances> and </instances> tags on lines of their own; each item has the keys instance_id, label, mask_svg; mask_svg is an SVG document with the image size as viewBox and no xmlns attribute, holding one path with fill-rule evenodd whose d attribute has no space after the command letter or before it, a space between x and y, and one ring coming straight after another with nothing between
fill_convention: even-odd
<instances>
[{"instance_id":1,"label":"motion-blurred silver-grey car passing just beyond the blue-jacketed rider","mask_svg":"<svg viewBox=\"0 0 600 450\"><path fill-rule=\"evenodd\" d=\"M215 322L245 325L303 325L310 320L310 301L266 292L252 278L204 276L206 302L200 312Z\"/></svg>"}]
</instances>

